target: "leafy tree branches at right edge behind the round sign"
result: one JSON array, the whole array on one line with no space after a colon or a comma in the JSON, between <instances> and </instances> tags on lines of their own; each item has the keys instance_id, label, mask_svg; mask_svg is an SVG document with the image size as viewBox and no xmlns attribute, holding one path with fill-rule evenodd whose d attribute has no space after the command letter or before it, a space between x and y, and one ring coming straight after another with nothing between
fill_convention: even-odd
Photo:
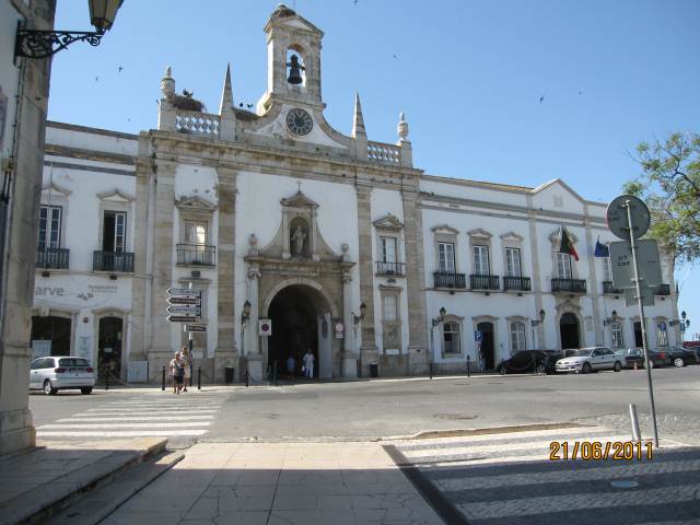
<instances>
[{"instance_id":1,"label":"leafy tree branches at right edge behind the round sign","mask_svg":"<svg viewBox=\"0 0 700 525\"><path fill-rule=\"evenodd\" d=\"M675 262L700 259L700 135L676 132L642 142L635 160L642 174L623 190L646 201L649 235Z\"/></svg>"}]
</instances>

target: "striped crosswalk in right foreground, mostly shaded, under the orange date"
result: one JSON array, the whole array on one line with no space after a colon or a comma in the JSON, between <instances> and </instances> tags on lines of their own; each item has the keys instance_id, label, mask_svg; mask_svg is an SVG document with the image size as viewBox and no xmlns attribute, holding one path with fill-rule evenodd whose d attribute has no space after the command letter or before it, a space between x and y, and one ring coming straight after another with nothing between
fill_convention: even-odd
<instances>
[{"instance_id":1,"label":"striped crosswalk in right foreground, mostly shaded, under the orange date","mask_svg":"<svg viewBox=\"0 0 700 525\"><path fill-rule=\"evenodd\" d=\"M607 460L591 457L594 448L605 454L606 443L629 441L588 427L396 441L392 453L448 523L700 523L700 448L662 441L651 459L645 444L631 458L612 459L615 445Z\"/></svg>"}]
</instances>

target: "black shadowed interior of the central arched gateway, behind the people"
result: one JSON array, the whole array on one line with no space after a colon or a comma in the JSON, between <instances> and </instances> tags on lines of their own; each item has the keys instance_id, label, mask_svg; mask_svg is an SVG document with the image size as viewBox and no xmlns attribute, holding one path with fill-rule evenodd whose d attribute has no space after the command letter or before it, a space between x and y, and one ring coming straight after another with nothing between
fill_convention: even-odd
<instances>
[{"instance_id":1,"label":"black shadowed interior of the central arched gateway, behind the people","mask_svg":"<svg viewBox=\"0 0 700 525\"><path fill-rule=\"evenodd\" d=\"M294 376L302 375L306 350L314 354L314 377L318 377L318 322L311 289L292 285L280 290L270 304L272 335L268 340L268 366L277 366L278 376L288 376L290 355L294 358Z\"/></svg>"}]
</instances>

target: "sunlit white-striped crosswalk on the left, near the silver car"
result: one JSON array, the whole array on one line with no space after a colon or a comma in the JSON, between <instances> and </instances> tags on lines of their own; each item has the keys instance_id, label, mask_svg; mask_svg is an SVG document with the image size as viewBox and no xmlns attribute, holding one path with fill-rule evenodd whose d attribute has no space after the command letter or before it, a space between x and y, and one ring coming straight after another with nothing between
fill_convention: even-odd
<instances>
[{"instance_id":1,"label":"sunlit white-striped crosswalk on the left, near the silver car","mask_svg":"<svg viewBox=\"0 0 700 525\"><path fill-rule=\"evenodd\" d=\"M36 429L42 440L205 435L226 399L223 393L144 394L90 408Z\"/></svg>"}]
</instances>

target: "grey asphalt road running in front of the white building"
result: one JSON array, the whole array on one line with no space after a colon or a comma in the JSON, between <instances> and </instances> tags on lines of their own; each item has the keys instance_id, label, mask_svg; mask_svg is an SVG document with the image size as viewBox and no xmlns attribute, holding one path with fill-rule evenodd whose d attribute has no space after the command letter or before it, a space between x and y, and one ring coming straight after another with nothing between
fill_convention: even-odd
<instances>
[{"instance_id":1,"label":"grey asphalt road running in front of the white building","mask_svg":"<svg viewBox=\"0 0 700 525\"><path fill-rule=\"evenodd\" d=\"M660 431L664 436L700 444L700 366L653 371ZM203 395L202 395L203 394ZM634 402L646 421L645 371L591 375L479 376L457 378L374 380L306 383L245 388L205 387L190 392L187 410L217 412L200 441L373 440L427 430L582 420L629 428L628 405ZM158 388L125 388L90 396L32 394L36 427L77 413L143 399L158 416L185 398ZM156 407L153 408L153 402ZM207 405L210 405L207 407ZM211 412L209 412L211 413ZM175 416L176 417L176 416ZM62 423L70 424L70 423ZM143 432L144 423L140 423ZM145 425L148 427L148 425ZM156 428L158 425L154 425ZM644 429L650 435L649 427Z\"/></svg>"}]
</instances>

